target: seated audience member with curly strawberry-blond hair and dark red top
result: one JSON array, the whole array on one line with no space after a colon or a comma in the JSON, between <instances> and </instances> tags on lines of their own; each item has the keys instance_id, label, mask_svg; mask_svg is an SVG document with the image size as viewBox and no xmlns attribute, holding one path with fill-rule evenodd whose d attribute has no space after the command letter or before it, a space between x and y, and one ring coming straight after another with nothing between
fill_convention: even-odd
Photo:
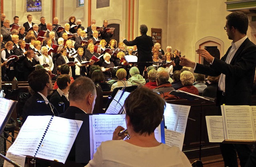
<instances>
[{"instance_id":1,"label":"seated audience member with curly strawberry-blond hair and dark red top","mask_svg":"<svg viewBox=\"0 0 256 167\"><path fill-rule=\"evenodd\" d=\"M184 71L180 74L180 81L184 87L178 89L182 91L186 91L188 93L192 93L194 95L199 95L198 89L193 86L194 75L190 71Z\"/></svg>"}]
</instances>

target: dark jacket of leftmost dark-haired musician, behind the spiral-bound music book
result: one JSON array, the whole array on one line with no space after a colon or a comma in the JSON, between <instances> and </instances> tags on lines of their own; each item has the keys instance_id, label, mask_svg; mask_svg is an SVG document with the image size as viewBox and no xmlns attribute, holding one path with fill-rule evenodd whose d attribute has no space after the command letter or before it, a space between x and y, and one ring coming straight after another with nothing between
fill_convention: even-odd
<instances>
[{"instance_id":1,"label":"dark jacket of leftmost dark-haired musician, behind the spiral-bound music book","mask_svg":"<svg viewBox=\"0 0 256 167\"><path fill-rule=\"evenodd\" d=\"M36 92L26 101L22 113L23 122L26 121L29 115L53 115L49 103L48 105L44 102L39 103L37 99L44 100L43 97Z\"/></svg>"}]
</instances>

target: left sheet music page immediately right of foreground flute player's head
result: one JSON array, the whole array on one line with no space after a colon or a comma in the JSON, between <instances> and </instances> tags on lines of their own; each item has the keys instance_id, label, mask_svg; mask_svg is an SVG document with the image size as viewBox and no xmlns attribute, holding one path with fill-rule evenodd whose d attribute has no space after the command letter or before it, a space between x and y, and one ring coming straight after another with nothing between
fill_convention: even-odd
<instances>
[{"instance_id":1,"label":"left sheet music page immediately right of foreground flute player's head","mask_svg":"<svg viewBox=\"0 0 256 167\"><path fill-rule=\"evenodd\" d=\"M164 110L164 123L167 129L176 130L178 123L178 115L181 105L166 103L166 108Z\"/></svg>"}]
</instances>

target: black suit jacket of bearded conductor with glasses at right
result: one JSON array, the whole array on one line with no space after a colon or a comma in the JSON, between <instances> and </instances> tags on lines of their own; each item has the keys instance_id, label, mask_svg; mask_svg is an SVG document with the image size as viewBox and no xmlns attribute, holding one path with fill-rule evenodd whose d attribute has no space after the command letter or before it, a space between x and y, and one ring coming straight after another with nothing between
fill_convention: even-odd
<instances>
[{"instance_id":1,"label":"black suit jacket of bearded conductor with glasses at right","mask_svg":"<svg viewBox=\"0 0 256 167\"><path fill-rule=\"evenodd\" d=\"M251 105L256 66L256 46L247 38L238 48L230 64L227 64L225 60L230 49L231 46L221 60L215 58L211 66L196 64L194 72L208 76L225 74L226 105ZM222 105L218 100L221 96L220 93L217 91L216 103L218 105Z\"/></svg>"}]
</instances>

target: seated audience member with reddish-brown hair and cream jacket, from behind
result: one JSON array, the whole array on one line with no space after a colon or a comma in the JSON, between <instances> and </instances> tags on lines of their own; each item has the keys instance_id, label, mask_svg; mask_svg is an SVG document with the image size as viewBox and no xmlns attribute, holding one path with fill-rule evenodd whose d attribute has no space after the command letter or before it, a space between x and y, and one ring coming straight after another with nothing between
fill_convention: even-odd
<instances>
[{"instance_id":1,"label":"seated audience member with reddish-brown hair and cream jacket, from behind","mask_svg":"<svg viewBox=\"0 0 256 167\"><path fill-rule=\"evenodd\" d=\"M124 70L123 68L117 70L116 77L118 78L118 81L116 83L113 83L113 85L111 86L111 91L113 91L116 87L132 86L132 83L126 81L126 75L126 70Z\"/></svg>"}]
</instances>

